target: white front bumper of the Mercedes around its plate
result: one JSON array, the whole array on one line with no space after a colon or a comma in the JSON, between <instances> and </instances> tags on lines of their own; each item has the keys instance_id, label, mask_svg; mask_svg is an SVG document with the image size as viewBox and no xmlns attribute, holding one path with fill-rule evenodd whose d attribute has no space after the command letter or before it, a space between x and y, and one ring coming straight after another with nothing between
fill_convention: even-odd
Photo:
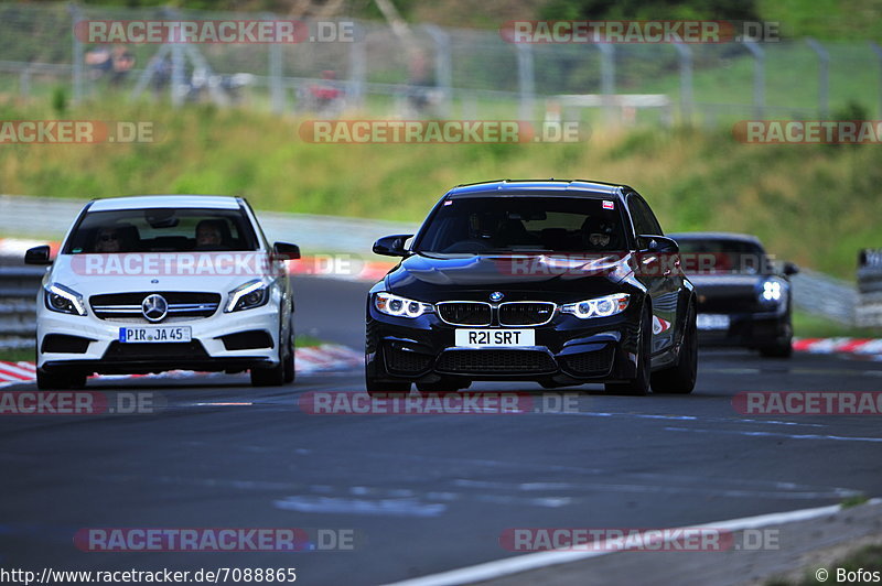
<instances>
[{"instance_id":1,"label":"white front bumper of the Mercedes around its plate","mask_svg":"<svg viewBox=\"0 0 882 586\"><path fill-rule=\"evenodd\" d=\"M92 312L78 316L39 307L36 323L37 367L44 371L148 373L182 369L238 372L252 367L271 367L279 361L280 317L279 307L272 302L243 312L227 314L218 308L211 317L160 324L106 321ZM119 341L120 327L147 325L189 326L192 341ZM229 338L225 344L224 337L239 333L254 333L245 339L258 339L256 345L260 347L227 349ZM60 339L64 343L58 344Z\"/></svg>"}]
</instances>

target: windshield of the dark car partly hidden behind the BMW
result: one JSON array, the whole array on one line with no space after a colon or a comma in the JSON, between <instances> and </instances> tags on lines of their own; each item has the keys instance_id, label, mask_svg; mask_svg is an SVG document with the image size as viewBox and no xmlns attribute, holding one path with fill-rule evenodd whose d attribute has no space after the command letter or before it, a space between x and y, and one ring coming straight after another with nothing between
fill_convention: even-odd
<instances>
[{"instance_id":1,"label":"windshield of the dark car partly hidden behind the BMW","mask_svg":"<svg viewBox=\"0 0 882 586\"><path fill-rule=\"evenodd\" d=\"M682 263L687 274L757 274L770 271L765 251L756 242L722 238L673 238L680 247L680 257L690 260Z\"/></svg>"}]
</instances>

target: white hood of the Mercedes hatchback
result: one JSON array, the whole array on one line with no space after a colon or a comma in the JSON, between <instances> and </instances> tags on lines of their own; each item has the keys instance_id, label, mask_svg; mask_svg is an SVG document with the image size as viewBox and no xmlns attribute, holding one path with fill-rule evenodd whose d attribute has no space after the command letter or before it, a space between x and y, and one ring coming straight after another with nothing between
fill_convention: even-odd
<instances>
[{"instance_id":1,"label":"white hood of the Mercedes hatchback","mask_svg":"<svg viewBox=\"0 0 882 586\"><path fill-rule=\"evenodd\" d=\"M116 260L88 264L89 257L93 257L92 260L95 260L94 257L103 257L106 261L112 254L58 254L45 281L66 285L88 299L96 294L140 291L207 291L225 295L243 283L261 278L259 270L246 268L246 264L229 269L223 263L213 264L212 268L204 265L202 270L195 267L194 274L168 274L162 269L164 259L175 258L175 254L154 253L152 256L161 259L157 270L150 270L150 267L143 263L139 265L141 268L138 270L127 270L125 264L119 264ZM130 267L136 265L138 264ZM120 267L121 270L118 270ZM227 270L233 274L217 274ZM172 271L172 273L174 272Z\"/></svg>"}]
</instances>

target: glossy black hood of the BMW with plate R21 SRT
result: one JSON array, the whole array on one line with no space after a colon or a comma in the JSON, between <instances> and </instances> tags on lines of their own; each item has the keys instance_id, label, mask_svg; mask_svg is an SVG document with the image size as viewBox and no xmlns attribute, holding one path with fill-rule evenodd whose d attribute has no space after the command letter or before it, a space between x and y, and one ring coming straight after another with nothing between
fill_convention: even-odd
<instances>
[{"instance_id":1,"label":"glossy black hood of the BMW with plate R21 SRT","mask_svg":"<svg viewBox=\"0 0 882 586\"><path fill-rule=\"evenodd\" d=\"M392 293L438 301L452 292L542 292L542 299L605 294L632 274L630 256L415 254L387 275Z\"/></svg>"}]
</instances>

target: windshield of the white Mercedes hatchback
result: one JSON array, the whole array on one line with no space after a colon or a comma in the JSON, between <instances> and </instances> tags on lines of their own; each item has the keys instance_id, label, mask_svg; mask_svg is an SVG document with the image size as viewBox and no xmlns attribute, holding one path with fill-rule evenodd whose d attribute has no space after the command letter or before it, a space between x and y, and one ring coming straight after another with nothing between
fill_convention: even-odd
<instances>
[{"instance_id":1,"label":"windshield of the white Mercedes hatchback","mask_svg":"<svg viewBox=\"0 0 882 586\"><path fill-rule=\"evenodd\" d=\"M86 214L64 253L257 250L250 221L237 209L122 209Z\"/></svg>"}]
</instances>

